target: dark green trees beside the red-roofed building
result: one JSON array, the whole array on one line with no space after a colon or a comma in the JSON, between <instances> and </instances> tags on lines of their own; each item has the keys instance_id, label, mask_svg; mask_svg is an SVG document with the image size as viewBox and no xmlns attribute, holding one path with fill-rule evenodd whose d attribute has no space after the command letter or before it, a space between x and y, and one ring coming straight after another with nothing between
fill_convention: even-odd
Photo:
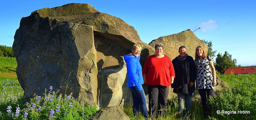
<instances>
[{"instance_id":1,"label":"dark green trees beside the red-roofed building","mask_svg":"<svg viewBox=\"0 0 256 120\"><path fill-rule=\"evenodd\" d=\"M206 40L203 40L203 41L209 47L208 55L210 55L211 57L215 57L217 50L212 49L213 47L212 41L206 41ZM223 55L221 55L221 53L218 53L216 57L216 61L214 62L215 70L217 70L221 74L223 74L228 68L242 67L241 65L236 65L236 64L237 64L237 60L232 59L232 55L229 54L227 51L225 51Z\"/></svg>"}]
</instances>

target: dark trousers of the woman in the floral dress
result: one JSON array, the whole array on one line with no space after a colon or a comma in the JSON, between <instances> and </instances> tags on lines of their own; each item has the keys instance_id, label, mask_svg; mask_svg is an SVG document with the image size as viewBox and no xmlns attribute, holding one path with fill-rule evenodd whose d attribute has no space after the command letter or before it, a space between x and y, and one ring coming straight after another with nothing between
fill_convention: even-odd
<instances>
[{"instance_id":1,"label":"dark trousers of the woman in the floral dress","mask_svg":"<svg viewBox=\"0 0 256 120\"><path fill-rule=\"evenodd\" d=\"M210 110L211 105L207 103L207 99L210 96L213 96L213 89L198 89L198 92L201 96L204 116L207 117L207 115L210 115L211 113L211 110Z\"/></svg>"}]
</instances>

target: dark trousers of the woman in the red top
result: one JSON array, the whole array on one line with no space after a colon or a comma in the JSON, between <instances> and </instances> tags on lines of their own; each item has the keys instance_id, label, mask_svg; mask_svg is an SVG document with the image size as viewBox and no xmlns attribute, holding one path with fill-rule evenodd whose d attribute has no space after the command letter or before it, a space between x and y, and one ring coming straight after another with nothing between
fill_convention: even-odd
<instances>
[{"instance_id":1,"label":"dark trousers of the woman in the red top","mask_svg":"<svg viewBox=\"0 0 256 120\"><path fill-rule=\"evenodd\" d=\"M148 109L152 119L155 119L157 105L159 109L159 115L161 117L165 116L168 93L169 87L162 85L148 85Z\"/></svg>"}]
</instances>

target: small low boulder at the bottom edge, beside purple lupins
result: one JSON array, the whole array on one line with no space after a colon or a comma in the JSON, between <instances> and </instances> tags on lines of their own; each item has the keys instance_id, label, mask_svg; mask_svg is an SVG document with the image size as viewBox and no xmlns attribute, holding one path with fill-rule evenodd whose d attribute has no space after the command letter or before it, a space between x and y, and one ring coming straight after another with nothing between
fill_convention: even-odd
<instances>
[{"instance_id":1,"label":"small low boulder at the bottom edge, beside purple lupins","mask_svg":"<svg viewBox=\"0 0 256 120\"><path fill-rule=\"evenodd\" d=\"M102 108L91 117L91 120L130 120L130 118L124 113L118 106L110 106Z\"/></svg>"}]
</instances>

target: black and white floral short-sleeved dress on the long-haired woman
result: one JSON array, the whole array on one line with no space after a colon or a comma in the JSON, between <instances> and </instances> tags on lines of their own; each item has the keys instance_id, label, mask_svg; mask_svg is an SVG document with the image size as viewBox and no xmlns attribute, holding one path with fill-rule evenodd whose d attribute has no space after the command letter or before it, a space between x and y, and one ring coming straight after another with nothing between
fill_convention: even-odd
<instances>
[{"instance_id":1,"label":"black and white floral short-sleeved dress on the long-haired woman","mask_svg":"<svg viewBox=\"0 0 256 120\"><path fill-rule=\"evenodd\" d=\"M210 65L211 60L212 58L210 56L205 57L203 61L200 61L199 58L194 60L198 69L198 76L196 78L197 89L214 89L213 73Z\"/></svg>"}]
</instances>

